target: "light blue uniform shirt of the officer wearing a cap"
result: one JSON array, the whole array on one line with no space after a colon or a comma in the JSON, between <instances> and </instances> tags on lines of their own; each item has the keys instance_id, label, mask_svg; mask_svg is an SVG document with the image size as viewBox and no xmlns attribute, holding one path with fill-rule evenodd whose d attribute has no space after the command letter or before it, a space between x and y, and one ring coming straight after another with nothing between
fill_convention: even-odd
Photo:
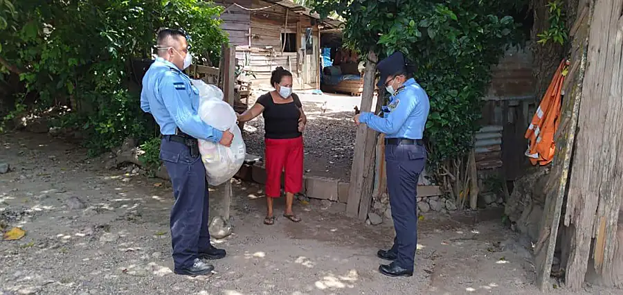
<instances>
[{"instance_id":1,"label":"light blue uniform shirt of the officer wearing a cap","mask_svg":"<svg viewBox=\"0 0 623 295\"><path fill-rule=\"evenodd\" d=\"M390 98L383 118L362 112L359 122L386 134L386 138L422 139L431 105L428 95L413 78L404 82L404 89Z\"/></svg>"}]
</instances>

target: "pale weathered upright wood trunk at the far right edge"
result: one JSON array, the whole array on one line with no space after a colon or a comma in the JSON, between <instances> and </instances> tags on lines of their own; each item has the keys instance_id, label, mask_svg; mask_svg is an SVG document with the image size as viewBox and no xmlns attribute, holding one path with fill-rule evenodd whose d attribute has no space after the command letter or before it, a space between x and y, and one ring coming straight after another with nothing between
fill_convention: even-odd
<instances>
[{"instance_id":1,"label":"pale weathered upright wood trunk at the far right edge","mask_svg":"<svg viewBox=\"0 0 623 295\"><path fill-rule=\"evenodd\" d=\"M623 191L623 152L619 150L623 147L623 1L592 3L588 66L565 215L571 240L566 285L572 290L584 284L591 256L598 275L617 277L612 272Z\"/></svg>"}]
</instances>

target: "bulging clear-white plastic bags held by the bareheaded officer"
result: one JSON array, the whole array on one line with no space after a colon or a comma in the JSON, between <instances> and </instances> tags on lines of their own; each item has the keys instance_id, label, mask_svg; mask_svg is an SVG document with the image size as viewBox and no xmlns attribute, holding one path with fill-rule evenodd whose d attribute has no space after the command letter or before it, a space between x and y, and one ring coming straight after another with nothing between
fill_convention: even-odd
<instances>
[{"instance_id":1,"label":"bulging clear-white plastic bags held by the bareheaded officer","mask_svg":"<svg viewBox=\"0 0 623 295\"><path fill-rule=\"evenodd\" d=\"M192 80L199 90L199 117L208 125L221 131L229 129L233 133L231 147L199 139L201 161L206 167L210 186L218 186L231 179L244 163L246 146L242 133L236 125L236 113L227 102L223 101L223 91L202 80Z\"/></svg>"}]
</instances>

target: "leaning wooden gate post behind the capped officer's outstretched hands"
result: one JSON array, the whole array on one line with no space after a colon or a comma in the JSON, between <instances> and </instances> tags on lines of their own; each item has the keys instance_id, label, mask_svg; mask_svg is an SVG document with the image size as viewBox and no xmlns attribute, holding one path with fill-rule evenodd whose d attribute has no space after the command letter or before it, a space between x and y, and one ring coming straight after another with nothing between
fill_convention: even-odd
<instances>
[{"instance_id":1,"label":"leaning wooden gate post behind the capped officer's outstretched hands","mask_svg":"<svg viewBox=\"0 0 623 295\"><path fill-rule=\"evenodd\" d=\"M365 64L366 75L363 76L361 111L373 111L372 100L374 99L376 62L377 55L374 51L370 51L368 53L368 62ZM358 217L360 220L365 220L372 202L372 190L374 190L374 150L376 143L377 132L369 129L364 124L357 127L346 214L351 217Z\"/></svg>"}]
</instances>

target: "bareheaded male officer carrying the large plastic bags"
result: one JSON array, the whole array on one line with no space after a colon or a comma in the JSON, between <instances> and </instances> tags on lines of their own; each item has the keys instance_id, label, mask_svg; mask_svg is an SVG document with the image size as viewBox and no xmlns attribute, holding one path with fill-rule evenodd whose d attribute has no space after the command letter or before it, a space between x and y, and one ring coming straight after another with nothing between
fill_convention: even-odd
<instances>
[{"instance_id":1,"label":"bareheaded male officer carrying the large plastic bags","mask_svg":"<svg viewBox=\"0 0 623 295\"><path fill-rule=\"evenodd\" d=\"M171 178L175 202L170 227L174 272L209 274L204 259L219 259L224 249L210 244L208 184L197 138L230 146L233 134L222 132L199 118L199 91L182 71L192 62L186 35L165 29L157 37L158 57L145 73L141 109L154 116L163 135L160 159Z\"/></svg>"}]
</instances>

